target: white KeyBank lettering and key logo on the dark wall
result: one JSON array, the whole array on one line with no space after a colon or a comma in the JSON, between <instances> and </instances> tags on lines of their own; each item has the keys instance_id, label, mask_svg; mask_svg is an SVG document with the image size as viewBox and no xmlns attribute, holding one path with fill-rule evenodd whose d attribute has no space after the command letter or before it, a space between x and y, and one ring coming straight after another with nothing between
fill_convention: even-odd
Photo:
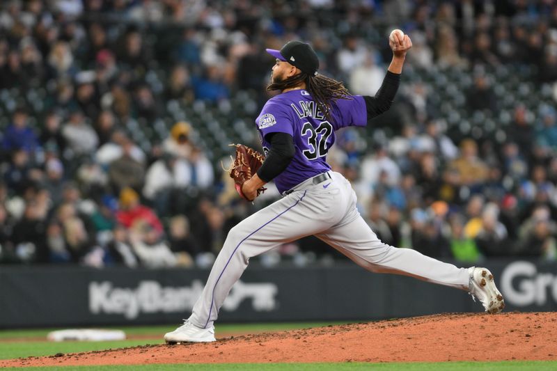
<instances>
[{"instance_id":1,"label":"white KeyBank lettering and key logo on the dark wall","mask_svg":"<svg viewBox=\"0 0 557 371\"><path fill-rule=\"evenodd\" d=\"M185 313L203 292L203 283L194 280L189 286L163 286L157 281L140 281L136 287L118 287L110 281L89 283L89 310L93 315L123 315L135 319L141 314ZM243 301L249 301L256 312L277 308L274 283L244 283L238 281L230 290L222 309L233 311Z\"/></svg>"}]
</instances>

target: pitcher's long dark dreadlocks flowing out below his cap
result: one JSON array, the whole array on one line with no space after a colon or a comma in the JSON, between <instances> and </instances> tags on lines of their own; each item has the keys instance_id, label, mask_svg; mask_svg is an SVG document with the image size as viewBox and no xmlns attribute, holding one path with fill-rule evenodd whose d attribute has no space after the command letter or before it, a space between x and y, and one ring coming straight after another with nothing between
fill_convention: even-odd
<instances>
[{"instance_id":1,"label":"pitcher's long dark dreadlocks flowing out below his cap","mask_svg":"<svg viewBox=\"0 0 557 371\"><path fill-rule=\"evenodd\" d=\"M305 72L296 74L295 76L289 77L283 81L272 82L269 86L267 86L267 90L285 90L288 88L295 88L303 82L306 83L306 90L313 97L313 100L315 100L315 103L317 103L317 106L327 120L331 119L331 111L336 100L352 99L352 97L350 97L350 93L348 93L348 89L345 88L341 81L336 81L335 79L331 79L331 77L327 77L322 74L316 74L313 76Z\"/></svg>"}]
</instances>

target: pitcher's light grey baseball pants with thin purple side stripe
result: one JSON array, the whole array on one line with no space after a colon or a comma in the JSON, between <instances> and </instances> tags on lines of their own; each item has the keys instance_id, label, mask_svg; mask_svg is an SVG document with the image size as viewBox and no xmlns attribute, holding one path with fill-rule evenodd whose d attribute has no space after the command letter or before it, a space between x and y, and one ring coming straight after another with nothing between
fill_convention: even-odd
<instances>
[{"instance_id":1,"label":"pitcher's light grey baseball pants with thin purple side stripe","mask_svg":"<svg viewBox=\"0 0 557 371\"><path fill-rule=\"evenodd\" d=\"M469 274L409 248L381 242L356 210L356 194L343 175L298 184L288 196L259 210L232 228L211 269L189 321L207 328L242 273L249 258L301 237L315 235L356 264L378 273L412 276L468 290Z\"/></svg>"}]
</instances>

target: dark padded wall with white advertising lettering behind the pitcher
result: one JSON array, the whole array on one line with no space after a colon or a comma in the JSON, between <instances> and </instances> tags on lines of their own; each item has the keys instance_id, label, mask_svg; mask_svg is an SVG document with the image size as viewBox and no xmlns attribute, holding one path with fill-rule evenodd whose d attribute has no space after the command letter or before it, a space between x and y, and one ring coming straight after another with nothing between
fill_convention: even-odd
<instances>
[{"instance_id":1,"label":"dark padded wall with white advertising lettering behind the pitcher","mask_svg":"<svg viewBox=\"0 0 557 371\"><path fill-rule=\"evenodd\" d=\"M557 310L557 264L490 261L505 310ZM0 266L0 328L176 323L203 290L205 269ZM251 265L221 322L371 320L478 312L460 290L414 278L334 267Z\"/></svg>"}]
</instances>

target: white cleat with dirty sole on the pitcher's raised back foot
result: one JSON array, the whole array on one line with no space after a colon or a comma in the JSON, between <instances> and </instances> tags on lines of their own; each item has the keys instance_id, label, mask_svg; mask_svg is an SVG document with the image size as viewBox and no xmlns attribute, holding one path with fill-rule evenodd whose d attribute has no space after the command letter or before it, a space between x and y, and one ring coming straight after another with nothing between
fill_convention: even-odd
<instances>
[{"instance_id":1,"label":"white cleat with dirty sole on the pitcher's raised back foot","mask_svg":"<svg viewBox=\"0 0 557 371\"><path fill-rule=\"evenodd\" d=\"M497 290L493 274L486 268L471 267L468 269L470 276L469 292L472 299L478 298L487 313L499 313L505 308L503 295Z\"/></svg>"}]
</instances>

